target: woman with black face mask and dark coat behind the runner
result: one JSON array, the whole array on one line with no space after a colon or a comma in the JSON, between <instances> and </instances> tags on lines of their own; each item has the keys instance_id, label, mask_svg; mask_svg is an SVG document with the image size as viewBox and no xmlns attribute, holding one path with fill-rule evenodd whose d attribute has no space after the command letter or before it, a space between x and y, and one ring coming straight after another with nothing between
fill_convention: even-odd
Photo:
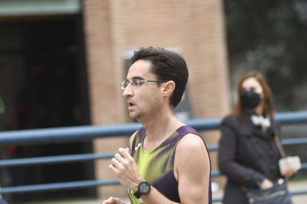
<instances>
[{"instance_id":1,"label":"woman with black face mask and dark coat behind the runner","mask_svg":"<svg viewBox=\"0 0 307 204\"><path fill-rule=\"evenodd\" d=\"M221 124L219 168L227 176L223 203L248 203L244 187L267 189L291 168L279 171L281 155L274 140L280 128L274 118L272 94L265 77L245 74L238 87L239 101Z\"/></svg>"}]
</instances>

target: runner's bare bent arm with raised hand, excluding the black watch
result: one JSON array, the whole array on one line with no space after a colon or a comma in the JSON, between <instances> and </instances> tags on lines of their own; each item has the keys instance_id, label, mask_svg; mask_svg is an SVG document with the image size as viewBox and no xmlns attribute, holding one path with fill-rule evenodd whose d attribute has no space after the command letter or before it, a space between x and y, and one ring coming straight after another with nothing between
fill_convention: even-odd
<instances>
[{"instance_id":1,"label":"runner's bare bent arm with raised hand, excluding the black watch","mask_svg":"<svg viewBox=\"0 0 307 204\"><path fill-rule=\"evenodd\" d=\"M138 184L145 181L139 174L136 163L129 154L129 149L119 148L119 153L111 160L110 170L123 186L136 192ZM203 140L194 134L187 134L176 148L175 177L181 203L208 203L210 163ZM151 187L148 195L142 195L146 204L175 204Z\"/></svg>"}]
</instances>

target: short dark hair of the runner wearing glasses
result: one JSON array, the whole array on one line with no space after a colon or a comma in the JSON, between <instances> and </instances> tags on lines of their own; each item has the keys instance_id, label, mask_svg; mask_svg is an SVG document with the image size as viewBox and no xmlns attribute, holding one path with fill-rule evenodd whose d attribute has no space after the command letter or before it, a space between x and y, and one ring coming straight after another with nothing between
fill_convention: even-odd
<instances>
[{"instance_id":1,"label":"short dark hair of the runner wearing glasses","mask_svg":"<svg viewBox=\"0 0 307 204\"><path fill-rule=\"evenodd\" d=\"M181 101L188 82L189 74L185 60L176 52L160 47L141 47L138 51L134 51L134 55L131 57L132 64L138 60L148 60L151 62L150 70L157 76L157 80L172 80L175 82L170 105L176 108Z\"/></svg>"}]
</instances>

